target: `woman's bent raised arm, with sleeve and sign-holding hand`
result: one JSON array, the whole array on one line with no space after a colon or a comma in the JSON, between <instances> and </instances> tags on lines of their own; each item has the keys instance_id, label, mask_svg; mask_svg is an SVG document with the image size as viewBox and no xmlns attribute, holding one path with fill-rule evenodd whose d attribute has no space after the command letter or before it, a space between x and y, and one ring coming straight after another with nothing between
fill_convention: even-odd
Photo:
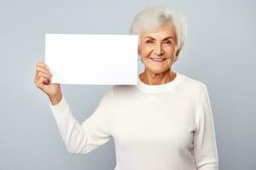
<instances>
[{"instance_id":1,"label":"woman's bent raised arm, with sleeve and sign-holding hand","mask_svg":"<svg viewBox=\"0 0 256 170\"><path fill-rule=\"evenodd\" d=\"M105 144L111 138L110 114L112 112L113 88L104 94L96 111L83 123L79 123L73 117L67 100L61 93L61 85L50 83L52 76L48 65L38 62L34 83L49 97L51 111L67 150L72 153L88 153Z\"/></svg>"}]
</instances>

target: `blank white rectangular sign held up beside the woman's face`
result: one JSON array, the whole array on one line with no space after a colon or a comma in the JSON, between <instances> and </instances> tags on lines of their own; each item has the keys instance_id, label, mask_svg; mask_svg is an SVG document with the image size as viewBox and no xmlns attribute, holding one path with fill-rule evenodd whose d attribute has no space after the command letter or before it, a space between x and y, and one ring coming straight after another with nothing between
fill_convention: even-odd
<instances>
[{"instance_id":1,"label":"blank white rectangular sign held up beside the woman's face","mask_svg":"<svg viewBox=\"0 0 256 170\"><path fill-rule=\"evenodd\" d=\"M137 35L45 34L52 83L137 84Z\"/></svg>"}]
</instances>

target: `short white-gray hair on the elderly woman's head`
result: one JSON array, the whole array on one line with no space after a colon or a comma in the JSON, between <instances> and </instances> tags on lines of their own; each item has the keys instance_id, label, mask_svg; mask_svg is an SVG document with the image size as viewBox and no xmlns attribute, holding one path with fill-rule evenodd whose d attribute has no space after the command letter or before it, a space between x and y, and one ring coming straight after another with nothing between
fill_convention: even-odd
<instances>
[{"instance_id":1,"label":"short white-gray hair on the elderly woman's head","mask_svg":"<svg viewBox=\"0 0 256 170\"><path fill-rule=\"evenodd\" d=\"M137 13L131 23L130 34L154 30L164 23L170 23L176 29L177 49L181 50L187 36L187 20L182 13L162 7L147 7Z\"/></svg>"}]
</instances>

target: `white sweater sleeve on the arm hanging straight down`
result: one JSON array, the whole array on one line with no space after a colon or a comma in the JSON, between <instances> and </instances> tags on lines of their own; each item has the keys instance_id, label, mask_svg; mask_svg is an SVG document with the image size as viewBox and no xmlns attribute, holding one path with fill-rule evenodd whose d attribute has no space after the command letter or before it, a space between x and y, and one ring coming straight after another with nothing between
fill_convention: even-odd
<instances>
[{"instance_id":1,"label":"white sweater sleeve on the arm hanging straight down","mask_svg":"<svg viewBox=\"0 0 256 170\"><path fill-rule=\"evenodd\" d=\"M200 112L194 138L195 164L198 170L218 170L218 150L207 86L201 95Z\"/></svg>"}]
</instances>

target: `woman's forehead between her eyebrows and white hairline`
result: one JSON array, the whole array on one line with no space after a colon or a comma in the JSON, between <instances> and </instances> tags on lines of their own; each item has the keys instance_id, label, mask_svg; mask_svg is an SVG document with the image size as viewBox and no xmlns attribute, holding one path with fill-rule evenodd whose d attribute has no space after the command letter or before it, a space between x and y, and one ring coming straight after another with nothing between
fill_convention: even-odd
<instances>
[{"instance_id":1,"label":"woman's forehead between her eyebrows and white hairline","mask_svg":"<svg viewBox=\"0 0 256 170\"><path fill-rule=\"evenodd\" d=\"M140 34L141 38L153 37L153 38L165 38L165 37L173 37L176 38L176 30L175 27L171 24L164 24L162 26L158 26L156 29L152 31L142 31Z\"/></svg>"}]
</instances>

